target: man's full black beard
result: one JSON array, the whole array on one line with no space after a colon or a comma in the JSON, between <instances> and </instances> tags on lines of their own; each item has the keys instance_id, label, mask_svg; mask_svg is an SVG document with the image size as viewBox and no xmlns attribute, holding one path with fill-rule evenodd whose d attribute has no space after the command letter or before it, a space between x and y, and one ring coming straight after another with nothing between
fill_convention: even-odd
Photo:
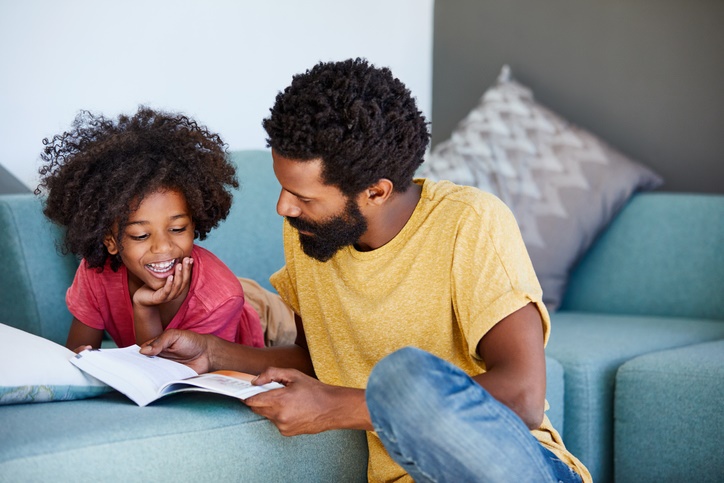
<instances>
[{"instance_id":1,"label":"man's full black beard","mask_svg":"<svg viewBox=\"0 0 724 483\"><path fill-rule=\"evenodd\" d=\"M289 224L299 231L312 235L299 234L302 250L308 256L326 262L340 249L353 245L367 231L367 220L352 198L347 200L344 211L327 221L319 223L287 217Z\"/></svg>"}]
</instances>

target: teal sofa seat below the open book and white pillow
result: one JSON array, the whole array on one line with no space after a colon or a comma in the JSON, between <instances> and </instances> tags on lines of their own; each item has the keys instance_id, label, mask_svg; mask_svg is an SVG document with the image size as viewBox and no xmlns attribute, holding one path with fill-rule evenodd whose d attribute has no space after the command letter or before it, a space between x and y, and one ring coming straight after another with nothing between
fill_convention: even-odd
<instances>
[{"instance_id":1,"label":"teal sofa seat below the open book and white pillow","mask_svg":"<svg viewBox=\"0 0 724 483\"><path fill-rule=\"evenodd\" d=\"M213 394L3 406L0 427L3 481L367 481L363 431L285 437Z\"/></svg>"}]
</instances>

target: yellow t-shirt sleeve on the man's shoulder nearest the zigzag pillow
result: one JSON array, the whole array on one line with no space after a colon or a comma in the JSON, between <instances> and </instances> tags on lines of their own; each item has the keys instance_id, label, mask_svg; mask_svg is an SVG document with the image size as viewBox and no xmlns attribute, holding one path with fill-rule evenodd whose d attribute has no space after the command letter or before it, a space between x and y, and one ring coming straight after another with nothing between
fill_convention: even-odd
<instances>
[{"instance_id":1,"label":"yellow t-shirt sleeve on the man's shoulder nearest the zigzag pillow","mask_svg":"<svg viewBox=\"0 0 724 483\"><path fill-rule=\"evenodd\" d=\"M510 209L495 197L461 219L452 267L453 305L472 357L480 339L530 302L539 306L548 338L541 288Z\"/></svg>"}]
</instances>

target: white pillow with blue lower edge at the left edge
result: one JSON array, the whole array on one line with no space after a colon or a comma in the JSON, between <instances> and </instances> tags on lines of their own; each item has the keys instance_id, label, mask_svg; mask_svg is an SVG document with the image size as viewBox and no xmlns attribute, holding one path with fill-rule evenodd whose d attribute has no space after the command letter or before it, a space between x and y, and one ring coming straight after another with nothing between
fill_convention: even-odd
<instances>
[{"instance_id":1,"label":"white pillow with blue lower edge at the left edge","mask_svg":"<svg viewBox=\"0 0 724 483\"><path fill-rule=\"evenodd\" d=\"M62 401L111 390L70 363L73 351L0 324L0 405Z\"/></svg>"}]
</instances>

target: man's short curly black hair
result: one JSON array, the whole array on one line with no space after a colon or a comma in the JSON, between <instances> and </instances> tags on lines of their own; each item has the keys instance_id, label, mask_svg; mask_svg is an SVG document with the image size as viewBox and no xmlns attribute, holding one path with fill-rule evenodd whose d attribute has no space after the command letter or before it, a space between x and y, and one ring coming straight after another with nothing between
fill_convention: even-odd
<instances>
[{"instance_id":1,"label":"man's short curly black hair","mask_svg":"<svg viewBox=\"0 0 724 483\"><path fill-rule=\"evenodd\" d=\"M295 75L264 119L280 155L322 159L322 180L353 196L382 178L404 192L430 139L409 89L364 59L320 62Z\"/></svg>"}]
</instances>

